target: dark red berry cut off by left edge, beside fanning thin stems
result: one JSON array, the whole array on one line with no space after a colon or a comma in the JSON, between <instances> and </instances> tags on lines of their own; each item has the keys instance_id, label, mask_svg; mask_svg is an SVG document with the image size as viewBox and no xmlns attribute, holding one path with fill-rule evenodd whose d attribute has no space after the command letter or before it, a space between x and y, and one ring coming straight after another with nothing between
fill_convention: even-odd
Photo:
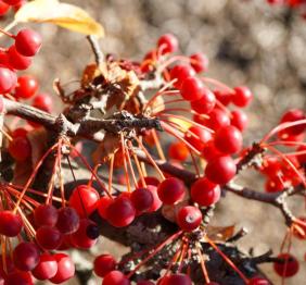
<instances>
[{"instance_id":1,"label":"dark red berry cut off by left edge, beside fanning thin stems","mask_svg":"<svg viewBox=\"0 0 306 285\"><path fill-rule=\"evenodd\" d=\"M23 227L23 221L20 215L12 211L0 212L0 234L9 237L18 235Z\"/></svg>"}]
</instances>

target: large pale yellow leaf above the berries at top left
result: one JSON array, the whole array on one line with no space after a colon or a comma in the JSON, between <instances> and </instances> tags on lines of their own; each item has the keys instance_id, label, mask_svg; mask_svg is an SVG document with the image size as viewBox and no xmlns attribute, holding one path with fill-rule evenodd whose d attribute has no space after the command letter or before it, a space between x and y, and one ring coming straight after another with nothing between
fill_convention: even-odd
<instances>
[{"instance_id":1,"label":"large pale yellow leaf above the berries at top left","mask_svg":"<svg viewBox=\"0 0 306 285\"><path fill-rule=\"evenodd\" d=\"M15 14L15 22L51 23L86 35L104 36L103 27L87 12L59 0L30 1Z\"/></svg>"}]
</instances>

